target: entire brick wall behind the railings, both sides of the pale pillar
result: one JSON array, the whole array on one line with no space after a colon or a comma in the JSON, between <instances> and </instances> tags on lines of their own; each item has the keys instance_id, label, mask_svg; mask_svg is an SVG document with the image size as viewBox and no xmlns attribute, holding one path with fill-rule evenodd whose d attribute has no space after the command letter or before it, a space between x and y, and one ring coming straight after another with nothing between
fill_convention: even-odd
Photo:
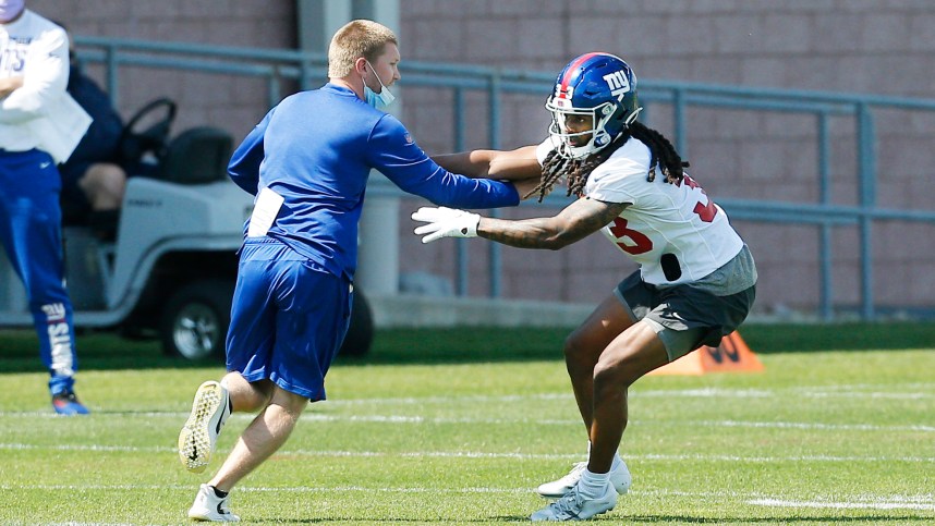
<instances>
[{"instance_id":1,"label":"entire brick wall behind the railings, both sides of the pale pillar","mask_svg":"<svg viewBox=\"0 0 935 526\"><path fill-rule=\"evenodd\" d=\"M64 7L69 12L64 12ZM75 7L80 5L81 9ZM29 7L73 33L222 46L295 46L294 2L270 0L31 0ZM402 0L403 61L483 64L557 73L571 58L606 50L622 56L640 78L935 98L935 4L926 0ZM99 72L92 72L99 73ZM155 96L179 101L177 131L211 124L242 137L266 111L266 87L216 75L135 71L122 77L127 115ZM503 101L502 147L541 140L542 97ZM403 122L429 152L453 148L450 97L420 88L403 93ZM487 147L487 101L470 96L466 146ZM664 107L649 124L671 134ZM831 120L833 201L857 201L854 123ZM932 210L935 115L877 113L878 201ZM813 119L744 111L689 113L691 173L715 198L815 200ZM422 246L401 210L403 272L452 276L452 243ZM507 217L536 213L535 208ZM551 212L552 210L548 210ZM729 212L729 210L728 210ZM818 298L818 234L734 221L761 270L760 311L813 308ZM932 306L935 232L921 224L874 229L874 290L879 303ZM834 232L835 302L860 299L854 228ZM470 244L472 269L484 269L487 244ZM559 253L503 248L503 292L510 297L594 303L633 266L594 236ZM486 292L474 280L473 294Z\"/></svg>"}]
</instances>

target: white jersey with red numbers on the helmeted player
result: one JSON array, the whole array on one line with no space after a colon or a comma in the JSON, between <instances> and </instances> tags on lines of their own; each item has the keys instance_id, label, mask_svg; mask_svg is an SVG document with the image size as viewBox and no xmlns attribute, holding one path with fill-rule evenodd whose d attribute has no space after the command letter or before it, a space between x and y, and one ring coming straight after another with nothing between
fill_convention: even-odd
<instances>
[{"instance_id":1,"label":"white jersey with red numbers on the helmeted player","mask_svg":"<svg viewBox=\"0 0 935 526\"><path fill-rule=\"evenodd\" d=\"M550 139L537 149L539 163L551 150ZM701 280L730 261L743 248L727 213L688 174L679 184L666 183L659 168L647 182L649 148L630 138L587 178L584 194L605 203L629 206L602 232L640 265L643 281L680 284ZM669 281L660 265L673 254L681 276Z\"/></svg>"}]
</instances>

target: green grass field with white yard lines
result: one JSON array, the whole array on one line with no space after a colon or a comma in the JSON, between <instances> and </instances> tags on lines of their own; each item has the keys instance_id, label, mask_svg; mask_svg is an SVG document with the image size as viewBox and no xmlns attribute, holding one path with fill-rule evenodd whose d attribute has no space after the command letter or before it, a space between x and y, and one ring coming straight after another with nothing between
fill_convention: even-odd
<instances>
[{"instance_id":1,"label":"green grass field with white yard lines","mask_svg":"<svg viewBox=\"0 0 935 526\"><path fill-rule=\"evenodd\" d=\"M232 493L248 524L524 523L583 460L566 329L398 330L339 358L327 402ZM647 377L621 452L631 492L598 524L935 524L935 326L750 326L762 374ZM217 363L80 339L52 414L35 340L0 332L0 524L187 524L203 475L174 444ZM230 450L250 416L219 440Z\"/></svg>"}]
</instances>

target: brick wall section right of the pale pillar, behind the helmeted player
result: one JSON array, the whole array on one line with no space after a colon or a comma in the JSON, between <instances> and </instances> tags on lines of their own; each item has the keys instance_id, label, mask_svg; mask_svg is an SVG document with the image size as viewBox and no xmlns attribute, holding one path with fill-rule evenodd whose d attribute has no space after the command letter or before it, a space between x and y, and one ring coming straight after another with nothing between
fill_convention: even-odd
<instances>
[{"instance_id":1,"label":"brick wall section right of the pale pillar, behind the helmeted player","mask_svg":"<svg viewBox=\"0 0 935 526\"><path fill-rule=\"evenodd\" d=\"M935 97L935 4L921 0L413 0L406 7L401 33L403 57L409 60L557 73L578 54L606 50L623 57L640 78ZM544 86L539 100L514 108L515 122L502 126L501 146L541 140L545 130L541 105L547 93L548 86ZM450 149L449 136L435 132L438 122L433 114L444 112L441 105L427 109L412 98L406 105L406 123L426 149ZM416 105L420 108L412 109ZM475 103L481 114L483 105L483 100ZM875 117L878 203L896 209L932 210L935 114L890 111ZM671 136L668 108L653 108L649 124ZM833 201L852 205L858 192L854 122L840 118L830 125ZM715 199L817 200L813 118L694 109L689 112L688 134L691 173ZM487 142L483 123L467 135L469 148L484 147ZM402 223L402 230L408 230L410 221ZM814 308L818 302L817 230L733 223L751 245L761 270L757 309ZM837 228L833 240L833 299L857 305L858 231ZM932 306L933 246L935 228L931 225L877 223L874 294L878 303ZM409 262L411 267L445 272L444 265L424 254L427 247L413 247L418 248L423 253ZM477 258L485 257L485 247L472 248ZM530 255L507 248L505 292L595 302L632 270L615 250L599 237L566 249L567 255ZM484 286L478 284L475 292L483 293Z\"/></svg>"}]
</instances>

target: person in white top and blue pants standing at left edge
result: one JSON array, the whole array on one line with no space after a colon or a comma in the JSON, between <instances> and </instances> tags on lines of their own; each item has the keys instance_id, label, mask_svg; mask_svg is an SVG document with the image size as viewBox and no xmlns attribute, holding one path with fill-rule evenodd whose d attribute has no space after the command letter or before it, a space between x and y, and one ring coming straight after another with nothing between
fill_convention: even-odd
<instances>
[{"instance_id":1,"label":"person in white top and blue pants standing at left edge","mask_svg":"<svg viewBox=\"0 0 935 526\"><path fill-rule=\"evenodd\" d=\"M68 72L65 32L23 0L0 0L0 243L26 289L52 406L85 415L74 392L77 355L56 166L89 119L65 94Z\"/></svg>"}]
</instances>

